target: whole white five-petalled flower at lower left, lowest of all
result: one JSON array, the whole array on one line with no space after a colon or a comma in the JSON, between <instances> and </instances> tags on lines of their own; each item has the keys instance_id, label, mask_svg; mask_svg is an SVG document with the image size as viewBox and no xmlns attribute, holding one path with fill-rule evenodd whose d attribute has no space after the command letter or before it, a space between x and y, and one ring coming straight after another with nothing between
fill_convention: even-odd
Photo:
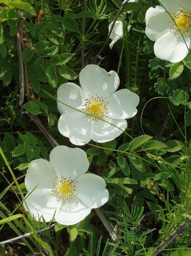
<instances>
[{"instance_id":1,"label":"whole white five-petalled flower at lower left, lowest of all","mask_svg":"<svg viewBox=\"0 0 191 256\"><path fill-rule=\"evenodd\" d=\"M73 225L84 220L92 208L105 204L109 197L106 183L98 175L85 173L88 167L82 149L66 146L54 148L50 162L32 161L25 177L26 189L30 192L39 186L26 198L31 214L37 220L43 216L49 222L56 211L57 222Z\"/></svg>"}]
</instances>

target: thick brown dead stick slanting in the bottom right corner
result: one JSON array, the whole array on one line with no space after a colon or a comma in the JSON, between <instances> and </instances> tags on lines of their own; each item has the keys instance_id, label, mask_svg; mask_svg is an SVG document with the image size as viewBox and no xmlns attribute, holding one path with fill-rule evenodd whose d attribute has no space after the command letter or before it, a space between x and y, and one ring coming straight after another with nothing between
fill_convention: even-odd
<instances>
[{"instance_id":1,"label":"thick brown dead stick slanting in the bottom right corner","mask_svg":"<svg viewBox=\"0 0 191 256\"><path fill-rule=\"evenodd\" d=\"M173 233L170 234L161 244L159 244L153 251L153 256L157 256L162 250L164 250L169 244L171 244L184 230L186 229L186 222L176 228Z\"/></svg>"}]
</instances>

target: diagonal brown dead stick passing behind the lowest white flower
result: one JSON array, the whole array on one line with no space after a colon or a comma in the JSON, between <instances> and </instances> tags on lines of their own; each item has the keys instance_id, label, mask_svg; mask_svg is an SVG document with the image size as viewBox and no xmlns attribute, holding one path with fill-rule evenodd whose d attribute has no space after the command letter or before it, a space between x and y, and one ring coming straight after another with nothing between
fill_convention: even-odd
<instances>
[{"instance_id":1,"label":"diagonal brown dead stick passing behind the lowest white flower","mask_svg":"<svg viewBox=\"0 0 191 256\"><path fill-rule=\"evenodd\" d=\"M34 116L33 114L29 113L28 111L26 111L26 113L30 116L30 118L34 121L34 123L42 131L42 133L45 135L45 137L50 141L51 145L53 147L59 146L59 144L53 138L53 136L50 134L50 132L48 132L48 130L40 122L39 118L37 116ZM112 227L109 225L109 222L107 221L107 219L106 219L105 215L103 214L103 212L99 208L94 209L94 211L96 212L96 214L98 215L99 219L101 220L101 222L103 223L103 225L107 229L107 231L108 231L109 235L111 236L111 238L115 241L117 239L117 236L116 236L114 230L112 229Z\"/></svg>"}]
</instances>

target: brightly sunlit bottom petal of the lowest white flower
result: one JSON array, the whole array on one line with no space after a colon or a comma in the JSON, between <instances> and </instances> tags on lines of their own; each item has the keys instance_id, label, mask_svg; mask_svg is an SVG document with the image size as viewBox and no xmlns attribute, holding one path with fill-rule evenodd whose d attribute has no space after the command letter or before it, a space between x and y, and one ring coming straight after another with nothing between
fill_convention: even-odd
<instances>
[{"instance_id":1,"label":"brightly sunlit bottom petal of the lowest white flower","mask_svg":"<svg viewBox=\"0 0 191 256\"><path fill-rule=\"evenodd\" d=\"M74 225L84 220L91 212L76 196L74 200L62 203L60 212L55 216L55 220L62 225Z\"/></svg>"}]
</instances>

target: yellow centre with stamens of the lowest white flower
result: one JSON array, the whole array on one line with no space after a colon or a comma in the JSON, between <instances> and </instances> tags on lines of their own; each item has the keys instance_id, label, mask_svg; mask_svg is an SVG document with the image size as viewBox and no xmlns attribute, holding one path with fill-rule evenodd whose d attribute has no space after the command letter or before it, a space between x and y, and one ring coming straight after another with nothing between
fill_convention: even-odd
<instances>
[{"instance_id":1,"label":"yellow centre with stamens of the lowest white flower","mask_svg":"<svg viewBox=\"0 0 191 256\"><path fill-rule=\"evenodd\" d=\"M56 182L53 182L51 190L53 192L52 195L56 196L58 201L62 200L63 202L74 199L74 196L77 195L75 193L77 181L73 181L71 177L68 180L66 178L62 179L62 177L59 179L58 176L56 176L55 180Z\"/></svg>"}]
</instances>

